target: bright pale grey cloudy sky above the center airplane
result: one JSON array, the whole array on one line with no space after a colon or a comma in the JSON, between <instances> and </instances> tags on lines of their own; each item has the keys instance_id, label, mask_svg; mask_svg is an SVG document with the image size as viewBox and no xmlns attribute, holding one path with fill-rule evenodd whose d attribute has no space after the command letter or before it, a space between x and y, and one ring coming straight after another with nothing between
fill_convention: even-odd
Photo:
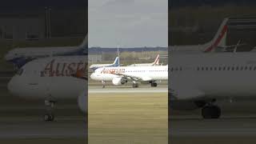
<instances>
[{"instance_id":1,"label":"bright pale grey cloudy sky above the center airplane","mask_svg":"<svg viewBox=\"0 0 256 144\"><path fill-rule=\"evenodd\" d=\"M89 46L168 46L167 0L89 0Z\"/></svg>"}]
</instances>

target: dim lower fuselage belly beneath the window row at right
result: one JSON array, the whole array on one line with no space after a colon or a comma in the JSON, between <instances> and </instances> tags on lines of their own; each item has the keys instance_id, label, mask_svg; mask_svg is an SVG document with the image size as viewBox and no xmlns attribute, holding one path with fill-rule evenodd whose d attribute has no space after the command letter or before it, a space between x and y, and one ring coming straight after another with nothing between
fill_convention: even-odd
<instances>
[{"instance_id":1,"label":"dim lower fuselage belly beneath the window row at right","mask_svg":"<svg viewBox=\"0 0 256 144\"><path fill-rule=\"evenodd\" d=\"M209 72L210 73L210 72ZM241 73L211 74L172 74L170 88L178 91L199 90L205 96L218 97L256 97L256 80L253 72L245 76ZM190 96L186 96L190 98Z\"/></svg>"}]
</instances>

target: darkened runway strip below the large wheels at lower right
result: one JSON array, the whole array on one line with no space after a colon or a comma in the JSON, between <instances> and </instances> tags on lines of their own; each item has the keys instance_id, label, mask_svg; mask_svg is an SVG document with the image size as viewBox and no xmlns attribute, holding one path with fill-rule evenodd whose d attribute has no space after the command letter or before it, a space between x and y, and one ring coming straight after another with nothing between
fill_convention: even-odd
<instances>
[{"instance_id":1,"label":"darkened runway strip below the large wheels at lower right","mask_svg":"<svg viewBox=\"0 0 256 144\"><path fill-rule=\"evenodd\" d=\"M256 136L255 117L170 119L170 137L235 137Z\"/></svg>"}]
</instances>

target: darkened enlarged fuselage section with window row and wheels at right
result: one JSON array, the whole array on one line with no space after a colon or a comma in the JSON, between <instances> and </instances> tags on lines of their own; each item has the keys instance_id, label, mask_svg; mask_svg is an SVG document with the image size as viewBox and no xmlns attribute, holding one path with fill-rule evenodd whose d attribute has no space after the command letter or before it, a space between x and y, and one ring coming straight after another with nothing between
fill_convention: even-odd
<instances>
[{"instance_id":1,"label":"darkened enlarged fuselage section with window row and wheels at right","mask_svg":"<svg viewBox=\"0 0 256 144\"><path fill-rule=\"evenodd\" d=\"M254 100L256 54L171 54L169 102L173 110L202 110L202 118L220 118L216 102Z\"/></svg>"}]
</instances>

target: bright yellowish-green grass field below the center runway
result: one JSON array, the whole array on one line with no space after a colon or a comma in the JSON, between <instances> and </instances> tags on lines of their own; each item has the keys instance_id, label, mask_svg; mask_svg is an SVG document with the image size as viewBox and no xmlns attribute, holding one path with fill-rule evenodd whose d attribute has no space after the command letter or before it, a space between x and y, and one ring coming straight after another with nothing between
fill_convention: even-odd
<instances>
[{"instance_id":1,"label":"bright yellowish-green grass field below the center runway","mask_svg":"<svg viewBox=\"0 0 256 144\"><path fill-rule=\"evenodd\" d=\"M167 94L90 94L89 143L167 143Z\"/></svg>"}]
</instances>

